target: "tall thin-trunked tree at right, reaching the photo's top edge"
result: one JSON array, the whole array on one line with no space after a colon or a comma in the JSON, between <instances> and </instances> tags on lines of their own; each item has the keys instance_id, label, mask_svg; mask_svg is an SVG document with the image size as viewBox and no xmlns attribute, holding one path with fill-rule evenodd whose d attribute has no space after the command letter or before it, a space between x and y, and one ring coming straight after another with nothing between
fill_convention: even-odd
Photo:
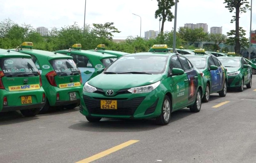
<instances>
[{"instance_id":1,"label":"tall thin-trunked tree at right, reaching the photo's top edge","mask_svg":"<svg viewBox=\"0 0 256 163\"><path fill-rule=\"evenodd\" d=\"M224 4L226 4L225 8L229 10L229 12L233 12L235 10L235 16L232 16L231 23L236 22L236 30L235 30L235 52L240 53L241 43L240 43L240 27L239 27L239 18L241 13L245 13L246 10L250 7L247 0L224 0ZM230 31L231 32L231 31Z\"/></svg>"}]
</instances>

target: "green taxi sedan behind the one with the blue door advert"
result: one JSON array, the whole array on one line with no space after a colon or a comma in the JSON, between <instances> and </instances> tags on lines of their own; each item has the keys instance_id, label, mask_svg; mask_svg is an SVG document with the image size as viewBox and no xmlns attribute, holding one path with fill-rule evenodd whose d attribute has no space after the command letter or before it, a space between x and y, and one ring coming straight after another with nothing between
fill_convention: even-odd
<instances>
[{"instance_id":1,"label":"green taxi sedan behind the one with the blue door advert","mask_svg":"<svg viewBox=\"0 0 256 163\"><path fill-rule=\"evenodd\" d=\"M228 87L237 88L240 92L252 87L252 66L242 56L236 56L235 52L228 52L228 56L218 57L222 65L227 68Z\"/></svg>"}]
</instances>

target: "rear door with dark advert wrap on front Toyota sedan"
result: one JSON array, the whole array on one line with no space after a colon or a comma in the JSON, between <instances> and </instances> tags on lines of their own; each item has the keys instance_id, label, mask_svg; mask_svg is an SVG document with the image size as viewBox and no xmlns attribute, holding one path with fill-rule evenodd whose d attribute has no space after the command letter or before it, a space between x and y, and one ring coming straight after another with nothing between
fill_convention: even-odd
<instances>
[{"instance_id":1,"label":"rear door with dark advert wrap on front Toyota sedan","mask_svg":"<svg viewBox=\"0 0 256 163\"><path fill-rule=\"evenodd\" d=\"M189 60L183 56L179 56L181 65L185 74L187 74L188 82L185 82L185 87L188 88L187 103L192 103L196 98L196 89L198 87L198 76L196 70L193 68Z\"/></svg>"}]
</instances>

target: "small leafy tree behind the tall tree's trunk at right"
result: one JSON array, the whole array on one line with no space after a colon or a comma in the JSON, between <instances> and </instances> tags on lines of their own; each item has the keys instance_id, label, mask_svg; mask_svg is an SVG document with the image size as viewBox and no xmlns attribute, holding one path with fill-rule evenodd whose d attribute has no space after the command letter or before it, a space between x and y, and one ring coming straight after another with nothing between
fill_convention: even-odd
<instances>
[{"instance_id":1,"label":"small leafy tree behind the tall tree's trunk at right","mask_svg":"<svg viewBox=\"0 0 256 163\"><path fill-rule=\"evenodd\" d=\"M249 46L249 40L244 37L246 35L246 31L242 28L242 27L239 27L239 44L241 47L243 47L244 49L246 49L246 47ZM231 30L230 32L227 32L227 36L228 36L228 39L226 40L226 45L231 45L231 46L234 46L236 45L236 30ZM236 47L236 46L235 46ZM236 52L236 51L235 51ZM240 53L240 50L239 52L236 52L237 54Z\"/></svg>"}]
</instances>

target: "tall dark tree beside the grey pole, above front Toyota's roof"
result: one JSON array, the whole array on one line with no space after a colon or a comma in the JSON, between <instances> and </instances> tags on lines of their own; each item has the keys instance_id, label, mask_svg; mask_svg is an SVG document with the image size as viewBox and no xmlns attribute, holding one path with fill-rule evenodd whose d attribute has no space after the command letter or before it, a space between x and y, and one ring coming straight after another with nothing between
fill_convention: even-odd
<instances>
[{"instance_id":1,"label":"tall dark tree beside the grey pole, above front Toyota's roof","mask_svg":"<svg viewBox=\"0 0 256 163\"><path fill-rule=\"evenodd\" d=\"M171 12L172 6L175 5L174 0L156 0L158 3L158 9L155 12L155 18L159 18L159 21L162 21L161 26L161 35L164 34L164 22L167 20L171 22L174 18L174 15Z\"/></svg>"}]
</instances>

